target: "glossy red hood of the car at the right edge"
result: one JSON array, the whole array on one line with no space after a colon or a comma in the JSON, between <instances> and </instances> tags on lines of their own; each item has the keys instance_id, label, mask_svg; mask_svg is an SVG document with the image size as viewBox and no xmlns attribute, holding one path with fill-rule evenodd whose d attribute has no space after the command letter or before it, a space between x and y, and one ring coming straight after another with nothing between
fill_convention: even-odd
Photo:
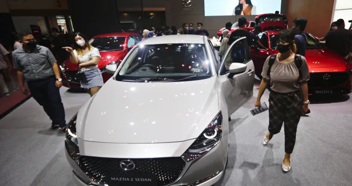
<instances>
[{"instance_id":1,"label":"glossy red hood of the car at the right edge","mask_svg":"<svg viewBox=\"0 0 352 186\"><path fill-rule=\"evenodd\" d=\"M305 58L307 59L310 71L314 70L314 68L323 67L342 67L342 70L346 71L346 60L329 49L306 50Z\"/></svg>"}]
</instances>

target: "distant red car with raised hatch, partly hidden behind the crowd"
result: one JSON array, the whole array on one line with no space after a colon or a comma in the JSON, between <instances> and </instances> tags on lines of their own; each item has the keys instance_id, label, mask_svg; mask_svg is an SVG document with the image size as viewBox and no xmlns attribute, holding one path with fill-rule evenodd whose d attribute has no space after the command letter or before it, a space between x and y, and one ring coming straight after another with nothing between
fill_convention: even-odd
<instances>
[{"instance_id":1,"label":"distant red car with raised hatch, partly hidden behind the crowd","mask_svg":"<svg viewBox=\"0 0 352 186\"><path fill-rule=\"evenodd\" d=\"M256 25L260 25L262 30L274 30L274 29L287 29L287 18L282 14L262 14L255 17L255 21L247 21L244 29L251 31ZM230 33L239 28L238 22L235 22L230 30ZM218 32L218 38L221 37L222 31L225 28L221 28Z\"/></svg>"}]
</instances>

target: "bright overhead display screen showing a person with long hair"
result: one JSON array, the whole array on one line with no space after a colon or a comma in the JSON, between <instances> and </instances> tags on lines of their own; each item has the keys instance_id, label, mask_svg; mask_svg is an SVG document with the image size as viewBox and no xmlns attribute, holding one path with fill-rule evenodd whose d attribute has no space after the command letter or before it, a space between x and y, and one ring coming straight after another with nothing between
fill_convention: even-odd
<instances>
[{"instance_id":1,"label":"bright overhead display screen showing a person with long hair","mask_svg":"<svg viewBox=\"0 0 352 186\"><path fill-rule=\"evenodd\" d=\"M204 0L205 16L261 15L281 10L281 0Z\"/></svg>"}]
</instances>

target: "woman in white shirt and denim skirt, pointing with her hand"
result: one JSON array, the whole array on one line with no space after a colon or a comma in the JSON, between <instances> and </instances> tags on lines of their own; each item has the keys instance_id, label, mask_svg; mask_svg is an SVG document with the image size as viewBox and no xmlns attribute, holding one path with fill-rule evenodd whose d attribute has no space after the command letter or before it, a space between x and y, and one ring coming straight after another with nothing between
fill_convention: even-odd
<instances>
[{"instance_id":1,"label":"woman in white shirt and denim skirt, pointing with her hand","mask_svg":"<svg viewBox=\"0 0 352 186\"><path fill-rule=\"evenodd\" d=\"M75 34L74 50L71 47L64 47L70 53L70 59L73 64L78 65L81 74L81 86L88 91L90 96L93 96L104 85L103 77L98 68L98 63L101 58L99 50L89 44L87 37L82 33ZM83 75L84 74L84 75Z\"/></svg>"}]
</instances>

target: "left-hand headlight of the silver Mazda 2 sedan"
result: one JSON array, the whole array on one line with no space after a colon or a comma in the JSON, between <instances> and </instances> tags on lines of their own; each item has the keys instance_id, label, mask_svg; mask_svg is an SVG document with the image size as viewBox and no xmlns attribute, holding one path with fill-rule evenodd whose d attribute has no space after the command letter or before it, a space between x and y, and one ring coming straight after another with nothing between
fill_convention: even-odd
<instances>
[{"instance_id":1,"label":"left-hand headlight of the silver Mazda 2 sedan","mask_svg":"<svg viewBox=\"0 0 352 186\"><path fill-rule=\"evenodd\" d=\"M67 125L65 139L66 150L70 157L75 161L78 161L81 156L78 148L78 138L76 133L77 114L73 116Z\"/></svg>"}]
</instances>

